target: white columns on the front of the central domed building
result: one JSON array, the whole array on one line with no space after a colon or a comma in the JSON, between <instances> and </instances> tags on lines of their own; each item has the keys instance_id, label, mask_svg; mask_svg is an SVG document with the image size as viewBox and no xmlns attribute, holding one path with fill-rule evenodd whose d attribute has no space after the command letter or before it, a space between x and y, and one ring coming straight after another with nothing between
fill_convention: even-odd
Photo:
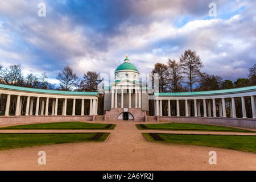
<instances>
[{"instance_id":1,"label":"white columns on the front of the central domed building","mask_svg":"<svg viewBox=\"0 0 256 182\"><path fill-rule=\"evenodd\" d=\"M134 98L134 105L135 108L141 108L141 88L112 88L111 90L111 108L117 108L117 94L118 94L118 90L120 90L119 92L121 92L121 108L123 108L123 96L124 94L129 94L129 108L131 108L131 94L134 92L135 94L135 98ZM128 93L127 93L128 90Z\"/></svg>"}]
</instances>

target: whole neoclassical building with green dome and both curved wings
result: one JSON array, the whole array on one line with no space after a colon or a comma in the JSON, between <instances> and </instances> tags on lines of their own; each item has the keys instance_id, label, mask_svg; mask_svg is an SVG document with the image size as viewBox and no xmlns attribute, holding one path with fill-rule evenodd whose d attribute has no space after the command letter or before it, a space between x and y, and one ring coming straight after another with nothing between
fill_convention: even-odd
<instances>
[{"instance_id":1,"label":"whole neoclassical building with green dome and both curved wings","mask_svg":"<svg viewBox=\"0 0 256 182\"><path fill-rule=\"evenodd\" d=\"M104 115L98 115L98 92L67 92L0 84L0 96L4 98L0 125L130 120L256 128L256 85L204 92L158 93L142 86L139 74L126 56L115 69L112 84L104 88ZM11 100L15 100L14 113L10 113ZM72 105L72 112L67 113L68 105ZM237 109L242 111L240 118L237 117ZM149 115L150 110L154 114Z\"/></svg>"}]
</instances>

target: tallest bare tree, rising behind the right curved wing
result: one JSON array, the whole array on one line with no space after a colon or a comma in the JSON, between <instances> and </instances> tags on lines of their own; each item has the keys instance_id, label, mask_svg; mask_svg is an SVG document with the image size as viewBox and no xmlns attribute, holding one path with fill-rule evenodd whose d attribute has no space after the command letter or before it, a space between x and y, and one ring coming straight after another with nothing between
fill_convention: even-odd
<instances>
[{"instance_id":1,"label":"tallest bare tree, rising behind the right curved wing","mask_svg":"<svg viewBox=\"0 0 256 182\"><path fill-rule=\"evenodd\" d=\"M188 79L187 83L190 87L190 92L192 92L193 84L199 81L200 69L203 68L203 63L199 56L196 55L195 51L190 49L186 50L180 57L181 67Z\"/></svg>"}]
</instances>

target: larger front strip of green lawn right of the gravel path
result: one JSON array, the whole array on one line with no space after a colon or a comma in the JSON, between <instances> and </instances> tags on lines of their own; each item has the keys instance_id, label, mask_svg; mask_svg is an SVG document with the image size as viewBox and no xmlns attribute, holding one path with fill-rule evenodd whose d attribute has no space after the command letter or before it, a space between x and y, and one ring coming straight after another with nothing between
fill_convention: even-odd
<instances>
[{"instance_id":1,"label":"larger front strip of green lawn right of the gravel path","mask_svg":"<svg viewBox=\"0 0 256 182\"><path fill-rule=\"evenodd\" d=\"M256 136L241 135L192 135L143 133L151 142L191 144L196 146L220 147L256 153ZM159 138L160 137L160 138ZM162 140L162 141L159 141Z\"/></svg>"}]
</instances>

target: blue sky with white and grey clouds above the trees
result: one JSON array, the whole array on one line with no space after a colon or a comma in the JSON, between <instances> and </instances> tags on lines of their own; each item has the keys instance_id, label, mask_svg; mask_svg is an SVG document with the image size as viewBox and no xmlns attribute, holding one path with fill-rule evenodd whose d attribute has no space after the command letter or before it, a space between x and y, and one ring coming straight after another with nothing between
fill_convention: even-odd
<instances>
[{"instance_id":1,"label":"blue sky with white and grey clouds above the trees","mask_svg":"<svg viewBox=\"0 0 256 182\"><path fill-rule=\"evenodd\" d=\"M209 16L209 3L217 16ZM47 72L56 83L65 65L80 77L109 74L128 52L148 73L192 49L204 72L236 80L256 63L255 9L255 0L1 0L0 63L20 64L25 75Z\"/></svg>"}]
</instances>

